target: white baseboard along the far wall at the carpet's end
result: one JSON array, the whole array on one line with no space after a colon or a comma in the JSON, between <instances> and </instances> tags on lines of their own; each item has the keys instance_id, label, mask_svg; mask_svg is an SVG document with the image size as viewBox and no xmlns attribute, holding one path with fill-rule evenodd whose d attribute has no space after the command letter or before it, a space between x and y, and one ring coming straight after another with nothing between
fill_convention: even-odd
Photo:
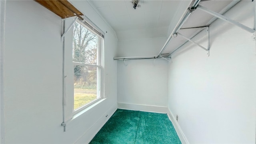
<instances>
[{"instance_id":1,"label":"white baseboard along the far wall at the carpet's end","mask_svg":"<svg viewBox=\"0 0 256 144\"><path fill-rule=\"evenodd\" d=\"M144 112L157 112L157 113L168 113L168 108L165 106L151 106L151 105L144 105L144 104L130 104L130 103L117 103L118 108L125 109L125 110L139 110Z\"/></svg>"}]
</instances>

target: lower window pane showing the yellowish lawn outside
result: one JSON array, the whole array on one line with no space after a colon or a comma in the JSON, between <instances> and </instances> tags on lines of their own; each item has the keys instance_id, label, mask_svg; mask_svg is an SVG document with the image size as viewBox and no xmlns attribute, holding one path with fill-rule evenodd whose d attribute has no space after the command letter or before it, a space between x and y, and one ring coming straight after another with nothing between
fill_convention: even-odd
<instances>
[{"instance_id":1,"label":"lower window pane showing the yellowish lawn outside","mask_svg":"<svg viewBox=\"0 0 256 144\"><path fill-rule=\"evenodd\" d=\"M74 110L97 97L97 67L74 65Z\"/></svg>"}]
</instances>

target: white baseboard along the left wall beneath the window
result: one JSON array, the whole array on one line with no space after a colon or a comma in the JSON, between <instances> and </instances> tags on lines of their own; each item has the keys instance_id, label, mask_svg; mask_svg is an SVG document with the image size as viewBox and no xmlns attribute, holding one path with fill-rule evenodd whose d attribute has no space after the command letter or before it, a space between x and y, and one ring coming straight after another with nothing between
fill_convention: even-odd
<instances>
[{"instance_id":1,"label":"white baseboard along the left wall beneath the window","mask_svg":"<svg viewBox=\"0 0 256 144\"><path fill-rule=\"evenodd\" d=\"M107 112L101 116L95 123L92 125L87 132L84 133L84 135L76 141L75 144L88 144L92 138L100 131L100 129L106 124L106 122L109 120L109 118L116 112L117 110L117 103L114 104L112 107L110 107ZM108 117L106 118L106 115L108 114Z\"/></svg>"}]
</instances>

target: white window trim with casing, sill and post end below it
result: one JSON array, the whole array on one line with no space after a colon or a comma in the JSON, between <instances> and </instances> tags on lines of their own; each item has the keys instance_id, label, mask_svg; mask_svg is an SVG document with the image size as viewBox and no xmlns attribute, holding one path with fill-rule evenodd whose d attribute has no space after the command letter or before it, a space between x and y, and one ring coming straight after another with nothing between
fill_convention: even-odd
<instances>
[{"instance_id":1,"label":"white window trim with casing, sill and post end below it","mask_svg":"<svg viewBox=\"0 0 256 144\"><path fill-rule=\"evenodd\" d=\"M93 22L91 22L86 16L83 16L84 20L90 22L91 26L94 27L94 29L98 30L99 32L102 32ZM83 20L83 21L84 21ZM85 104L78 110L74 111L74 87L72 90L72 86L74 86L74 83L72 81L74 80L74 76L72 76L72 73L74 75L74 70L70 70L72 66L74 66L74 63L72 61L72 43L73 43L73 30L66 30L68 26L74 21L74 18L66 18L62 19L62 28L61 28L61 34L66 33L66 36L61 40L62 43L62 50L63 50L63 72L62 72L62 104L63 104L63 122L62 126L64 126L64 132L66 131L66 124L71 122L72 120L78 118L80 115L86 113L88 110L93 108L94 106L97 106L98 104L102 103L104 100L106 100L105 96L105 40L104 37L100 36L98 38L98 54L100 54L101 59L97 61L97 64L82 64L82 63L75 63L78 65L84 65L84 66L93 66L97 67L97 69L100 69L100 96L99 98L96 98L92 102L89 102L88 104ZM75 20L76 21L76 20ZM80 21L80 20L79 20ZM84 22L81 22L84 24ZM80 22L79 22L80 23ZM84 25L83 25L84 26ZM85 26L88 28L87 26ZM72 24L71 28L74 28L74 25ZM91 30L88 28L88 30ZM95 32L92 31L94 34ZM104 33L102 32L104 35ZM97 35L97 34L96 34ZM97 35L98 36L98 35ZM99 53L100 52L100 53ZM71 55L70 55L71 54ZM98 66L100 64L100 66ZM98 76L97 72L97 76ZM72 80L73 78L73 80ZM74 82L74 81L73 81ZM71 88L71 89L70 89ZM97 91L98 92L98 91ZM73 94L72 94L73 93Z\"/></svg>"}]
</instances>

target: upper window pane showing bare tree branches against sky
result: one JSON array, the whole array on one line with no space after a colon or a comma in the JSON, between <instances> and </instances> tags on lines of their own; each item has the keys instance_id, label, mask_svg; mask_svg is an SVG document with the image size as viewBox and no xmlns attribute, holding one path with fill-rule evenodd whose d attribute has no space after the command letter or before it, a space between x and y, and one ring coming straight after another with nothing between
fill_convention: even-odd
<instances>
[{"instance_id":1,"label":"upper window pane showing bare tree branches against sky","mask_svg":"<svg viewBox=\"0 0 256 144\"><path fill-rule=\"evenodd\" d=\"M79 22L74 24L73 62L97 64L98 36Z\"/></svg>"}]
</instances>

